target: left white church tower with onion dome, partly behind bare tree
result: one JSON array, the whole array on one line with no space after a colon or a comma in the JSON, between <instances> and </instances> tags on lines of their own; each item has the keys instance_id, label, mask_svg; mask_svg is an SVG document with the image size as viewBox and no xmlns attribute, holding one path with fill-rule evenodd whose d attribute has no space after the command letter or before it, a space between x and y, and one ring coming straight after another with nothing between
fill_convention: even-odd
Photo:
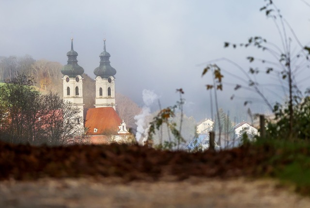
<instances>
[{"instance_id":1,"label":"left white church tower with onion dome, partly behind bare tree","mask_svg":"<svg viewBox=\"0 0 310 208\"><path fill-rule=\"evenodd\" d=\"M73 38L71 38L71 50L67 53L68 63L62 68L63 74L63 100L78 106L80 109L78 123L83 127L83 78L84 69L78 65L78 53L73 50Z\"/></svg>"}]
</instances>

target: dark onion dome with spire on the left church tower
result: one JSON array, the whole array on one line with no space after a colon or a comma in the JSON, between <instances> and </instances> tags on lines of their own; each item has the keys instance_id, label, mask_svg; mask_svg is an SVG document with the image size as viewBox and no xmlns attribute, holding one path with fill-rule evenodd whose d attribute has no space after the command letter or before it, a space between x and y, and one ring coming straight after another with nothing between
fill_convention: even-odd
<instances>
[{"instance_id":1,"label":"dark onion dome with spire on the left church tower","mask_svg":"<svg viewBox=\"0 0 310 208\"><path fill-rule=\"evenodd\" d=\"M73 50L73 38L71 38L71 50L67 53L68 63L62 68L63 75L76 77L77 75L82 75L84 73L84 69L78 65L77 56L78 53Z\"/></svg>"}]
</instances>

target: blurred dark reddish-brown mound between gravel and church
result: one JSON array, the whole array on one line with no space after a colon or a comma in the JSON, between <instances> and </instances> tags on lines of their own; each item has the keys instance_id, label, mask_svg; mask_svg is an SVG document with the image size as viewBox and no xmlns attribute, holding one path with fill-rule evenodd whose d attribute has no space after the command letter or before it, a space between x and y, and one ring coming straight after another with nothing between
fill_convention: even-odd
<instances>
[{"instance_id":1,"label":"blurred dark reddish-brown mound between gravel and church","mask_svg":"<svg viewBox=\"0 0 310 208\"><path fill-rule=\"evenodd\" d=\"M269 152L269 153L267 153ZM177 180L195 177L255 176L268 172L264 147L187 153L137 145L33 147L0 142L0 180L44 177L120 177L124 180Z\"/></svg>"}]
</instances>

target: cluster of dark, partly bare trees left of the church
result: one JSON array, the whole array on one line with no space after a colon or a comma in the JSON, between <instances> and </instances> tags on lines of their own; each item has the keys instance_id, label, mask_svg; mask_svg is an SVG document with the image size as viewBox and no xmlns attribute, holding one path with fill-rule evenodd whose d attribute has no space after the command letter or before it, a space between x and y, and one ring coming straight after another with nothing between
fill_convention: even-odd
<instances>
[{"instance_id":1,"label":"cluster of dark, partly bare trees left of the church","mask_svg":"<svg viewBox=\"0 0 310 208\"><path fill-rule=\"evenodd\" d=\"M33 82L33 78L19 74L0 87L2 139L32 145L83 141L79 108L63 101L57 93L40 94Z\"/></svg>"}]
</instances>

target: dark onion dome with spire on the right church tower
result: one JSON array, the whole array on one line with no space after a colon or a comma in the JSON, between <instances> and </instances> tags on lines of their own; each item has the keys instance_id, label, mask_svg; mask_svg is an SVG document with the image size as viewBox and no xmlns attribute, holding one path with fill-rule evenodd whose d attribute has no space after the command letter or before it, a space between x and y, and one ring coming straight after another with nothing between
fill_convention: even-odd
<instances>
[{"instance_id":1,"label":"dark onion dome with spire on the right church tower","mask_svg":"<svg viewBox=\"0 0 310 208\"><path fill-rule=\"evenodd\" d=\"M106 51L106 39L104 41L103 52L99 55L100 57L100 65L93 70L93 74L96 76L101 76L101 78L109 78L109 76L113 76L116 74L116 70L110 65L110 54Z\"/></svg>"}]
</instances>

